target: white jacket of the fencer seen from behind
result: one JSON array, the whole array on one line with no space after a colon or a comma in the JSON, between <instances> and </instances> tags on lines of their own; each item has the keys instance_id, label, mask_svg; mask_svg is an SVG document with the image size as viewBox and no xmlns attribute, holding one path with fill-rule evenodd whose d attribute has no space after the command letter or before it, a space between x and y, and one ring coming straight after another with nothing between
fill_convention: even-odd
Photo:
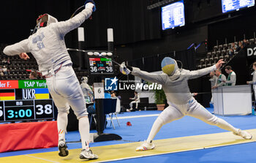
<instances>
[{"instance_id":1,"label":"white jacket of the fencer seen from behind","mask_svg":"<svg viewBox=\"0 0 256 163\"><path fill-rule=\"evenodd\" d=\"M61 22L50 23L39 28L35 34L14 45L4 48L8 56L20 53L32 53L39 65L42 75L48 75L51 70L59 69L59 65L72 64L64 41L64 36L73 29L77 29L91 16L94 4L86 4L86 8L75 17Z\"/></svg>"}]
</instances>

